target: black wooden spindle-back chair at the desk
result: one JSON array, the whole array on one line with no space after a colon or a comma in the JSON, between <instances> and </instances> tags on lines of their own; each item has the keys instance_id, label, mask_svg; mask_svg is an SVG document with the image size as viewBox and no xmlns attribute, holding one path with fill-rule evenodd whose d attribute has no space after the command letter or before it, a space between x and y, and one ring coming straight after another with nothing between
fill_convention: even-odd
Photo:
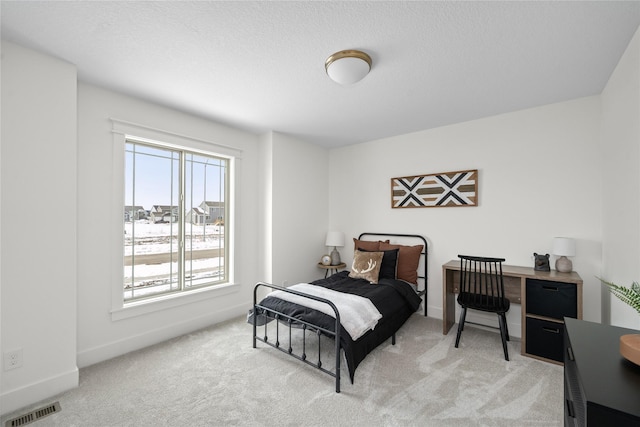
<instances>
[{"instance_id":1,"label":"black wooden spindle-back chair at the desk","mask_svg":"<svg viewBox=\"0 0 640 427\"><path fill-rule=\"evenodd\" d=\"M456 348L458 348L460 335L464 329L468 308L496 313L500 325L504 358L509 360L509 350L507 349L509 330L507 329L506 313L509 311L511 304L504 296L504 280L502 278L502 262L504 258L467 255L458 255L458 258L460 258L458 304L462 307L462 311L460 312L460 322L458 323Z\"/></svg>"}]
</instances>

